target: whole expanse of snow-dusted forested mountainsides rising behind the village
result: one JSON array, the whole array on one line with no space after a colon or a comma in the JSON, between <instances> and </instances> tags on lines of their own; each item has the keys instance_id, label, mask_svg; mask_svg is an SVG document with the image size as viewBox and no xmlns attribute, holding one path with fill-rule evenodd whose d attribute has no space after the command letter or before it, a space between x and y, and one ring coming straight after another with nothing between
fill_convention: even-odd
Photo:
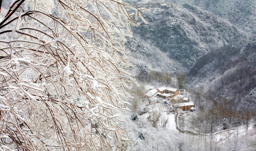
<instances>
[{"instance_id":1,"label":"whole expanse of snow-dusted forested mountainsides rising behind the village","mask_svg":"<svg viewBox=\"0 0 256 151\"><path fill-rule=\"evenodd\" d=\"M150 23L134 28L136 36L128 39L127 49L135 58L151 55L150 60L159 65L152 66L156 71L176 73L181 66L178 68L177 63L170 61L182 63L190 77L191 88L204 87L201 93L214 93L214 100L229 98L239 109L240 102L256 85L255 7L248 6L254 1L166 3L164 6L160 3L149 5L143 12ZM227 5L231 9L224 9ZM235 21L235 14L241 19ZM248 21L242 21L242 18L248 18ZM134 39L142 42L135 44ZM144 47L144 43L152 47ZM161 52L152 54L152 49ZM159 62L162 52L168 58L161 57ZM143 73L150 71L146 63L138 62L137 66Z\"/></svg>"}]
</instances>

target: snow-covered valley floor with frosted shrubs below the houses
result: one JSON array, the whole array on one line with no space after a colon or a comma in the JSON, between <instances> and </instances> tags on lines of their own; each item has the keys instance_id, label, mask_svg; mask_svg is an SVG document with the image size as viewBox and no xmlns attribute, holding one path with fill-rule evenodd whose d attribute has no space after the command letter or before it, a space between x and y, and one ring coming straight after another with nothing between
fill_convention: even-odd
<instances>
[{"instance_id":1,"label":"snow-covered valley floor with frosted shrubs below the houses","mask_svg":"<svg viewBox=\"0 0 256 151\"><path fill-rule=\"evenodd\" d=\"M183 115L180 113L168 113L165 105L153 104L144 106L148 112L143 115L138 115L138 121L129 122L128 129L133 130L130 132L135 142L132 143L131 151L138 150L241 150L241 151L255 151L256 147L256 134L253 129L253 121L249 123L249 128L246 133L246 125L241 125L237 128L230 128L228 130L219 130L210 133L198 133L188 127L180 127L180 120ZM165 128L161 128L161 123L158 127L152 127L152 123L147 119L154 110L158 110L163 117L168 118L168 123ZM196 111L197 112L197 111ZM188 120L191 115L197 114L196 112L185 111L184 125L193 123ZM129 118L129 117L126 117ZM145 140L138 137L138 132L143 132ZM238 135L237 135L238 134ZM166 146L166 143L168 145ZM162 146L161 146L162 145ZM143 148L143 149L142 149ZM169 149L168 149L169 148Z\"/></svg>"}]
</instances>

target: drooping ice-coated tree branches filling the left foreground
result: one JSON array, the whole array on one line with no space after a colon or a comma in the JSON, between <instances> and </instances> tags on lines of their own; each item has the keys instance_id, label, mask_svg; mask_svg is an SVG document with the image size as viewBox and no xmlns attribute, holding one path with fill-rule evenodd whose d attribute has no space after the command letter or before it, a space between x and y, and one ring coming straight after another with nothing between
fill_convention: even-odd
<instances>
[{"instance_id":1,"label":"drooping ice-coated tree branches filling the left foreground","mask_svg":"<svg viewBox=\"0 0 256 151\"><path fill-rule=\"evenodd\" d=\"M124 36L146 23L115 0L17 0L0 19L0 149L125 150ZM135 81L136 82L136 81Z\"/></svg>"}]
</instances>

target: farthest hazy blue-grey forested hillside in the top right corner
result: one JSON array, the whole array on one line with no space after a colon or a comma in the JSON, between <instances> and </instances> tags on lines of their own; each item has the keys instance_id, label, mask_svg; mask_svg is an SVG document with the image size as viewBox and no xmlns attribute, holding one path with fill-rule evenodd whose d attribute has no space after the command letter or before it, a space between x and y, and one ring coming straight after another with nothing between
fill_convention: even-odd
<instances>
[{"instance_id":1,"label":"farthest hazy blue-grey forested hillside in the top right corner","mask_svg":"<svg viewBox=\"0 0 256 151\"><path fill-rule=\"evenodd\" d=\"M180 0L182 4L191 4L212 12L218 17L229 20L246 32L255 34L255 0Z\"/></svg>"}]
</instances>

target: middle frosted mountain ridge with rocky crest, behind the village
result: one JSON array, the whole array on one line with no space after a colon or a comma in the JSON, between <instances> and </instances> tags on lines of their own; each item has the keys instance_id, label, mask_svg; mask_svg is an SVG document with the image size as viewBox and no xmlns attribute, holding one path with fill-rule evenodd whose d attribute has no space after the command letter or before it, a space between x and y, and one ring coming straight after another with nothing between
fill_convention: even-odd
<instances>
[{"instance_id":1,"label":"middle frosted mountain ridge with rocky crest, behind the village","mask_svg":"<svg viewBox=\"0 0 256 151\"><path fill-rule=\"evenodd\" d=\"M187 67L213 47L247 36L230 22L188 4L158 5L144 13L150 23L134 29L135 33Z\"/></svg>"}]
</instances>

